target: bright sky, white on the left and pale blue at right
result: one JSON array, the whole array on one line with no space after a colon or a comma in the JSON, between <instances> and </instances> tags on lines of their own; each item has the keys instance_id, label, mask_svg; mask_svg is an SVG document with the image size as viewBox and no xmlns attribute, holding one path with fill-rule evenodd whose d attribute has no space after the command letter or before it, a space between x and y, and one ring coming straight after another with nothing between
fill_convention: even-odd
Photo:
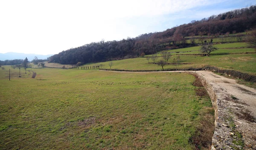
<instances>
[{"instance_id":1,"label":"bright sky, white on the left and pale blue at right","mask_svg":"<svg viewBox=\"0 0 256 150\"><path fill-rule=\"evenodd\" d=\"M1 0L0 53L58 54L165 31L255 0Z\"/></svg>"}]
</instances>

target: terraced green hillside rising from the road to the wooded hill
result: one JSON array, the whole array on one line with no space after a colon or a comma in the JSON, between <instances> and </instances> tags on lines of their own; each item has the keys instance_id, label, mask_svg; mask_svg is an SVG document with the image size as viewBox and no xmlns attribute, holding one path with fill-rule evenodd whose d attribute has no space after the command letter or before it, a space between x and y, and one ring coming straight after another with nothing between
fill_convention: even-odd
<instances>
[{"instance_id":1,"label":"terraced green hillside rising from the road to the wooded hill","mask_svg":"<svg viewBox=\"0 0 256 150\"><path fill-rule=\"evenodd\" d=\"M216 51L213 51L210 54L210 57L201 57L197 55L184 55L184 54L202 54L200 51L200 46L190 47L190 48L181 48L169 50L170 52L183 52L183 53L171 53L172 56L169 59L169 63L173 63L173 59L180 54L180 64L168 64L164 66L164 69L181 69L181 68L200 68L206 65L216 66L221 69L229 69L241 71L247 74L256 75L256 51L254 48L241 48L247 47L248 45L244 42L240 43L229 43L229 44L218 44L214 45L217 48L220 48ZM189 51L189 52L187 52ZM245 54L245 53L253 54ZM161 57L161 54L157 54L157 59L155 62L158 62ZM145 57L151 57L147 55ZM124 69L124 70L160 70L161 66L152 63L153 60L148 60L145 57L134 58L134 59L123 59L113 61L112 69ZM83 66L98 66L103 65L102 68L110 68L108 65L109 62L99 62L95 64L85 64Z\"/></svg>"}]
</instances>

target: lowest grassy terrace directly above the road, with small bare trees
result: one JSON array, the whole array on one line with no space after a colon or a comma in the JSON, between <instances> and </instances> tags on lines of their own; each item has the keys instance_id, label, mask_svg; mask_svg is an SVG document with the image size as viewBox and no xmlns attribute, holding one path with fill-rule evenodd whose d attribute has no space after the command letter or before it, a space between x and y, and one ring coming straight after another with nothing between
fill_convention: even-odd
<instances>
[{"instance_id":1,"label":"lowest grassy terrace directly above the road, with small bare trees","mask_svg":"<svg viewBox=\"0 0 256 150\"><path fill-rule=\"evenodd\" d=\"M216 51L217 52L217 51ZM173 58L177 56L172 56L169 62L172 62ZM229 69L241 71L248 74L256 75L256 55L255 54L230 54L230 55L210 55L210 57L201 57L201 56L186 56L180 55L181 63L191 63L184 65L165 65L164 69L172 68L199 68L205 65L216 66L221 69ZM158 57L158 60L162 59ZM152 62L152 60L149 60ZM84 66L93 66L103 64L103 68L108 68L108 62L99 62L96 64L84 65ZM125 70L160 70L161 66L157 64L149 63L146 58L134 58L134 59L123 59L113 61L112 69L125 69Z\"/></svg>"}]
</instances>

